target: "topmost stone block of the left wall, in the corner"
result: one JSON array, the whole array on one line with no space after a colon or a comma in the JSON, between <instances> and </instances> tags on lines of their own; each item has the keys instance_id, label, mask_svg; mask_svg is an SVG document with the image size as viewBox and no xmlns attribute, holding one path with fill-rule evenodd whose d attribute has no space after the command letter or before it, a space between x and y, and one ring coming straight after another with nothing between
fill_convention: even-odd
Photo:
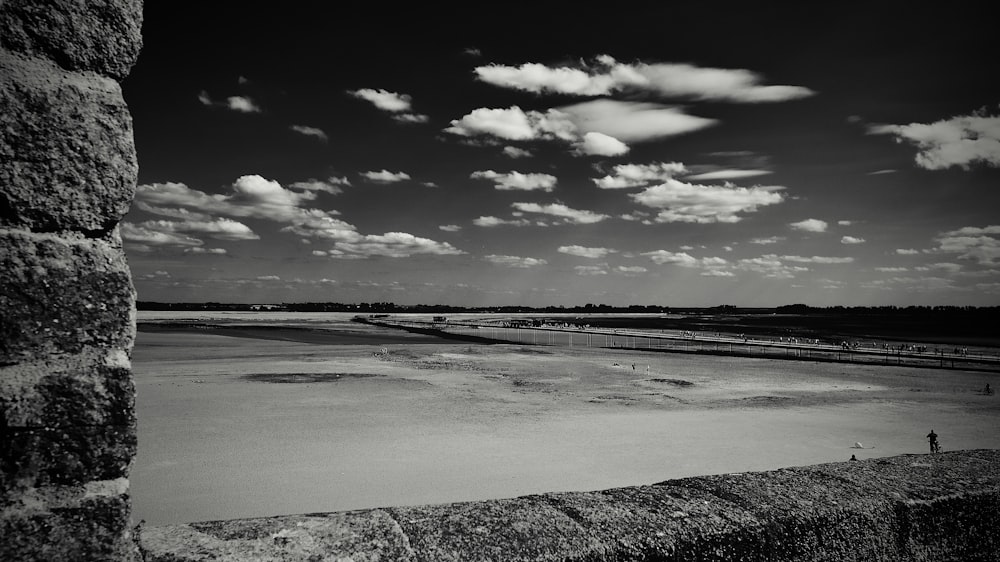
<instances>
[{"instance_id":1,"label":"topmost stone block of the left wall, in the corner","mask_svg":"<svg viewBox=\"0 0 1000 562\"><path fill-rule=\"evenodd\" d=\"M142 47L141 0L2 0L0 46L124 78Z\"/></svg>"}]
</instances>

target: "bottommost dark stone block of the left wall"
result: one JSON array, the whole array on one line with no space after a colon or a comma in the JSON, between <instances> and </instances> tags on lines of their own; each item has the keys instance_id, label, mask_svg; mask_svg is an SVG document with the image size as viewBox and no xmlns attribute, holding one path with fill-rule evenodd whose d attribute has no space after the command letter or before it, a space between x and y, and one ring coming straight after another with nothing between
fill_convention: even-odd
<instances>
[{"instance_id":1,"label":"bottommost dark stone block of the left wall","mask_svg":"<svg viewBox=\"0 0 1000 562\"><path fill-rule=\"evenodd\" d=\"M127 495L88 498L74 507L0 512L0 560L139 560Z\"/></svg>"}]
</instances>

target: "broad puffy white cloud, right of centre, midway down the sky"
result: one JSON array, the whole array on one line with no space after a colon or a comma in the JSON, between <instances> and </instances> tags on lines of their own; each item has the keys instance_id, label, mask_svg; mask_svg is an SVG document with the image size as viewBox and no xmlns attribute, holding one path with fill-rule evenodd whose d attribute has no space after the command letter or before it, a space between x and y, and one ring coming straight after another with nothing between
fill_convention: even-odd
<instances>
[{"instance_id":1,"label":"broad puffy white cloud, right of centre, midway down the sky","mask_svg":"<svg viewBox=\"0 0 1000 562\"><path fill-rule=\"evenodd\" d=\"M699 185L669 179L629 195L637 203L660 209L656 222L735 223L740 213L784 201L782 186Z\"/></svg>"}]
</instances>

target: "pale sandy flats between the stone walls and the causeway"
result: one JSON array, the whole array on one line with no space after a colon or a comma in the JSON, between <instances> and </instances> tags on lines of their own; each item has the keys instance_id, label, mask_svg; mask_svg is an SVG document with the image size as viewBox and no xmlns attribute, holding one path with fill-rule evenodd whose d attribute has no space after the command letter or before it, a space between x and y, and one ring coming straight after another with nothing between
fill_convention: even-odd
<instances>
[{"instance_id":1,"label":"pale sandy flats between the stone walls and the causeway","mask_svg":"<svg viewBox=\"0 0 1000 562\"><path fill-rule=\"evenodd\" d=\"M981 392L1000 387L997 373L483 345L346 319L303 330L311 326L143 326L133 354L136 520L846 462L924 453L931 429L945 450L1000 448L1000 398Z\"/></svg>"}]
</instances>

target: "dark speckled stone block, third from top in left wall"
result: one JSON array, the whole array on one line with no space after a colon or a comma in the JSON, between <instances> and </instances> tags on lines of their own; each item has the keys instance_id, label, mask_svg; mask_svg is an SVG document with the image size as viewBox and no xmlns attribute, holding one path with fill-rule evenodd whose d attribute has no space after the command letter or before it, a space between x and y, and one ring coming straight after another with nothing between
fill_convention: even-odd
<instances>
[{"instance_id":1,"label":"dark speckled stone block, third from top in left wall","mask_svg":"<svg viewBox=\"0 0 1000 562\"><path fill-rule=\"evenodd\" d=\"M0 366L84 348L130 350L135 290L111 241L0 229Z\"/></svg>"}]
</instances>

